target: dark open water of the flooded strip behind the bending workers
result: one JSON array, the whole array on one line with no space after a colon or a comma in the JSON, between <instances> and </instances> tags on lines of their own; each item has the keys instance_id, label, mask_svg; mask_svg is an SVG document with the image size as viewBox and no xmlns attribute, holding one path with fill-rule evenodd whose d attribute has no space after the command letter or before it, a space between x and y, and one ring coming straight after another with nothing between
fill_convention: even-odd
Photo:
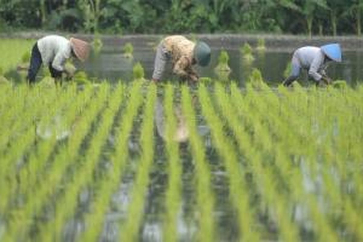
<instances>
[{"instance_id":1,"label":"dark open water of the flooded strip behind the bending workers","mask_svg":"<svg viewBox=\"0 0 363 242\"><path fill-rule=\"evenodd\" d=\"M134 58L123 57L122 46L125 42L132 42L127 39L105 41L103 48L97 54L93 53L89 61L78 65L79 68L84 68L90 77L117 81L122 79L130 81L132 79L132 66L136 62L141 62L146 78L151 78L154 68L155 46L159 42L158 39L143 38L134 42ZM206 40L208 42L208 40ZM201 77L211 77L220 79L215 73L214 68L217 65L217 60L221 48L227 50L229 54L229 66L232 72L229 74L229 79L238 82L244 86L248 75L252 68L258 68L262 72L262 76L272 86L276 86L284 79L284 71L286 65L290 62L291 53L294 48L298 48L302 43L296 45L291 44L284 49L278 47L269 47L264 53L254 52L255 60L252 63L246 63L242 57L239 47L240 43L231 42L220 45L219 42L211 41L212 59L208 67L197 67ZM344 49L344 45L343 45ZM343 63L331 63L327 73L333 79L344 79L350 85L355 85L359 80L363 79L363 69L361 62L363 60L363 50L345 49L343 53ZM175 79L170 71L164 75L165 79ZM306 73L301 75L301 84L309 85Z\"/></svg>"}]
</instances>

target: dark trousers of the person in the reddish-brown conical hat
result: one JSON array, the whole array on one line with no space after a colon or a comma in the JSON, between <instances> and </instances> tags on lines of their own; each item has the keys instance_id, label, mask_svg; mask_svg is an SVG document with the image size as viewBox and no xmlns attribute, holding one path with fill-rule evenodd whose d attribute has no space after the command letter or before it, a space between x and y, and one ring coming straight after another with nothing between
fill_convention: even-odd
<instances>
[{"instance_id":1,"label":"dark trousers of the person in the reddish-brown conical hat","mask_svg":"<svg viewBox=\"0 0 363 242\"><path fill-rule=\"evenodd\" d=\"M35 77L39 71L40 66L42 65L42 57L40 55L38 45L35 43L32 49L32 56L30 57L30 66L28 70L28 76L26 79L28 79L29 83L32 84L35 82ZM58 71L53 68L52 63L49 64L49 71L50 75L53 78L61 78L62 77L62 71Z\"/></svg>"}]
</instances>

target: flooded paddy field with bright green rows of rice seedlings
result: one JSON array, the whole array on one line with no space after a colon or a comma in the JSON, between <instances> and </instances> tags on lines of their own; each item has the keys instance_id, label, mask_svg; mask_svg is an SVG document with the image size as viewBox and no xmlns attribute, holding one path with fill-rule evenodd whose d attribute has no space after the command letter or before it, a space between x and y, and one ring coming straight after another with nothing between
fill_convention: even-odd
<instances>
[{"instance_id":1,"label":"flooded paddy field with bright green rows of rice seedlings","mask_svg":"<svg viewBox=\"0 0 363 242\"><path fill-rule=\"evenodd\" d=\"M34 43L7 41L4 73ZM0 241L363 241L361 83L155 85L137 66L0 83Z\"/></svg>"}]
</instances>

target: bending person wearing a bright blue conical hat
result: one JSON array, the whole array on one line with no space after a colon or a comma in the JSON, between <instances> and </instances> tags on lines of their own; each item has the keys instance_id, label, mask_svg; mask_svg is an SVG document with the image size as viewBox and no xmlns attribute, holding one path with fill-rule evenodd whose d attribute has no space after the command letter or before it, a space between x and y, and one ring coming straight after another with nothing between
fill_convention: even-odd
<instances>
[{"instance_id":1,"label":"bending person wearing a bright blue conical hat","mask_svg":"<svg viewBox=\"0 0 363 242\"><path fill-rule=\"evenodd\" d=\"M342 62L342 50L339 44L323 45L320 48L315 46L305 46L295 50L291 60L291 74L284 81L284 86L290 86L295 81L301 68L306 69L309 77L312 77L317 85L331 83L331 79L326 75L325 69L330 61Z\"/></svg>"}]
</instances>

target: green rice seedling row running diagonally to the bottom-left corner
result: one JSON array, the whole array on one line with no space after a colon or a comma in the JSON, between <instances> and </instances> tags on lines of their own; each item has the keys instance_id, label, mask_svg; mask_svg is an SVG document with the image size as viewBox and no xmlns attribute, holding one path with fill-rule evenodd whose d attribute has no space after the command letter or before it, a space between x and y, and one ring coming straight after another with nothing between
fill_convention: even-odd
<instances>
[{"instance_id":1,"label":"green rice seedling row running diagonally to the bottom-left corner","mask_svg":"<svg viewBox=\"0 0 363 242\"><path fill-rule=\"evenodd\" d=\"M74 160L77 159L82 141L85 139L91 124L96 121L98 113L105 106L109 90L109 85L100 86L94 102L90 103L87 110L76 121L74 131L67 140L67 144L57 151L46 174L42 177L42 180L39 180L36 189L29 190L29 193L24 195L26 197L24 205L19 206L15 211L11 211L15 215L9 221L5 240L27 234L32 216L40 213L42 206L46 204L49 196L54 194L54 189L57 188L65 176L68 166L72 165Z\"/></svg>"}]
</instances>

